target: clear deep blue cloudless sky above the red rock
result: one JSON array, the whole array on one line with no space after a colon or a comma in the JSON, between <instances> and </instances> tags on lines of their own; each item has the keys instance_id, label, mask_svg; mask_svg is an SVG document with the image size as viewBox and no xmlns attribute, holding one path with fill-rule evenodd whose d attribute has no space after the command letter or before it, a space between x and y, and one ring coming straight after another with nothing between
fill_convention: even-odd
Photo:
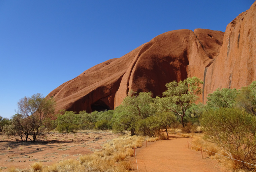
<instances>
[{"instance_id":1,"label":"clear deep blue cloudless sky above the red rock","mask_svg":"<svg viewBox=\"0 0 256 172\"><path fill-rule=\"evenodd\" d=\"M226 26L253 0L0 0L0 116L164 32Z\"/></svg>"}]
</instances>

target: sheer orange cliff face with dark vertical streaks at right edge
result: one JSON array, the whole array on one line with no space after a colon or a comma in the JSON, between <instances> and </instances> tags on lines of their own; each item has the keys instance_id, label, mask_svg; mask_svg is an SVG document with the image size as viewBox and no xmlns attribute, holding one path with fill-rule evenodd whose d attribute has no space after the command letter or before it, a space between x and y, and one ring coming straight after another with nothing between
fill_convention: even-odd
<instances>
[{"instance_id":1,"label":"sheer orange cliff face with dark vertical streaks at right edge","mask_svg":"<svg viewBox=\"0 0 256 172\"><path fill-rule=\"evenodd\" d=\"M237 88L256 80L256 1L228 24L219 55L207 69L205 93Z\"/></svg>"}]
</instances>

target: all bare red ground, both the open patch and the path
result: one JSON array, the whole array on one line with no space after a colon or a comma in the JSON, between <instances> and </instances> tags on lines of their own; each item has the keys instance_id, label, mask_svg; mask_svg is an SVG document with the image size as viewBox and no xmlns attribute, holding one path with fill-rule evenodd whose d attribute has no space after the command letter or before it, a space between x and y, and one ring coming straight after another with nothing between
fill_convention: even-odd
<instances>
[{"instance_id":1,"label":"all bare red ground, both the open patch and the path","mask_svg":"<svg viewBox=\"0 0 256 172\"><path fill-rule=\"evenodd\" d=\"M14 141L15 138L0 139L0 169L6 171L14 166L19 169L30 169L34 162L51 165L64 159L77 159L80 155L93 153L102 145L118 136L107 132L86 133L53 133L47 139L38 139L37 142ZM187 141L190 138L170 135L169 140L143 143L136 149L136 158L139 172L229 172L216 161L211 160L204 153L188 149ZM191 146L191 145L190 145ZM10 150L7 148L11 147ZM22 150L19 148L23 147ZM36 150L38 148L38 150ZM134 157L131 157L133 171L137 171Z\"/></svg>"}]
</instances>

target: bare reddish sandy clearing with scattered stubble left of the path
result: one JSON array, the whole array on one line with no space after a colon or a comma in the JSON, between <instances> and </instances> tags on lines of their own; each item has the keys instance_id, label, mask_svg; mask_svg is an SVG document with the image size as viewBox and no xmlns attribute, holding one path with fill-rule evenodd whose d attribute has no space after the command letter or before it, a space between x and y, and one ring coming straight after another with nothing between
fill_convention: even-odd
<instances>
[{"instance_id":1,"label":"bare reddish sandy clearing with scattered stubble left of the path","mask_svg":"<svg viewBox=\"0 0 256 172\"><path fill-rule=\"evenodd\" d=\"M32 141L15 141L15 137L0 135L0 171L14 166L30 169L34 162L51 165L66 159L77 159L81 155L91 154L101 149L104 143L117 138L111 132L52 133L47 138ZM21 139L20 139L21 140ZM11 149L8 150L8 147ZM20 149L22 147L22 150ZM36 150L38 148L38 150Z\"/></svg>"}]
</instances>

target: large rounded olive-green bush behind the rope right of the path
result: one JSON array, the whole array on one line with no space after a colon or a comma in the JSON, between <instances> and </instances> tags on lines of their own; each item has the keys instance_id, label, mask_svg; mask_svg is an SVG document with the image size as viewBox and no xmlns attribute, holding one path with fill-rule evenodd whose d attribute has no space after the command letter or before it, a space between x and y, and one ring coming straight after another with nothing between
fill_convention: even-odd
<instances>
[{"instance_id":1,"label":"large rounded olive-green bush behind the rope right of the path","mask_svg":"<svg viewBox=\"0 0 256 172\"><path fill-rule=\"evenodd\" d=\"M231 158L256 164L255 116L238 109L220 108L205 112L200 122L204 139L222 147Z\"/></svg>"}]
</instances>

